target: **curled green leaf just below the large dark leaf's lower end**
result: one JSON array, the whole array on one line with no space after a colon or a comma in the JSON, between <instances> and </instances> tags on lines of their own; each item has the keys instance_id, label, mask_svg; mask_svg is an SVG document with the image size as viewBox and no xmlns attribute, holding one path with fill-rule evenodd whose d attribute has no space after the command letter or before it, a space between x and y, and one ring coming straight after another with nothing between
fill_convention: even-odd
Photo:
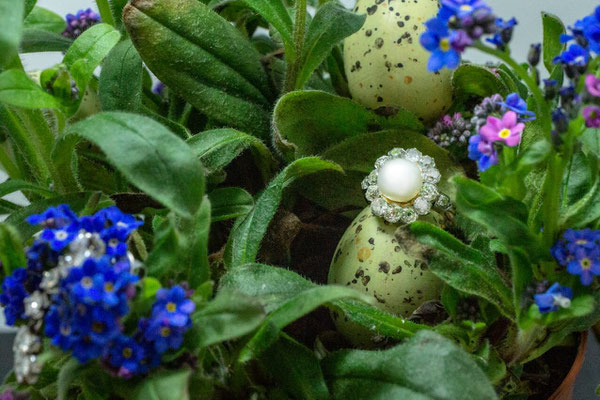
<instances>
[{"instance_id":1,"label":"curled green leaf just below the large dark leaf's lower end","mask_svg":"<svg viewBox=\"0 0 600 400\"><path fill-rule=\"evenodd\" d=\"M226 167L246 149L252 152L265 178L275 172L275 160L269 148L260 139L234 129L204 131L192 136L187 143L209 174Z\"/></svg>"}]
</instances>

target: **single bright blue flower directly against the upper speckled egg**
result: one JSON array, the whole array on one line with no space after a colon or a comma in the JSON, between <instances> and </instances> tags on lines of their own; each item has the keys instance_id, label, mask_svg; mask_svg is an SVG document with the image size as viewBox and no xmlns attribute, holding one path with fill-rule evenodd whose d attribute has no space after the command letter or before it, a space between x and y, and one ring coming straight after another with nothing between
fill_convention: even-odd
<instances>
[{"instance_id":1,"label":"single bright blue flower directly against the upper speckled egg","mask_svg":"<svg viewBox=\"0 0 600 400\"><path fill-rule=\"evenodd\" d=\"M459 52L452 47L452 38L448 29L447 21L441 18L433 18L425 23L427 31L421 35L421 45L432 52L427 69L437 72L444 67L454 69L460 63ZM456 36L456 39L459 39Z\"/></svg>"}]
</instances>

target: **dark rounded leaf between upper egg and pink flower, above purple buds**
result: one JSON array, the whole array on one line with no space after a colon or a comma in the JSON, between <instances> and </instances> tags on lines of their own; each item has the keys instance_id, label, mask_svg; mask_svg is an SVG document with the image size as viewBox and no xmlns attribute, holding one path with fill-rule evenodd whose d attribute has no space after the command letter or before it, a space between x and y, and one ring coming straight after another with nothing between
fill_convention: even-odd
<instances>
[{"instance_id":1,"label":"dark rounded leaf between upper egg and pink flower, above purple buds","mask_svg":"<svg viewBox=\"0 0 600 400\"><path fill-rule=\"evenodd\" d=\"M496 93L507 95L508 89L492 71L474 64L463 64L452 75L452 84L456 96L465 97L476 95L488 97Z\"/></svg>"}]
</instances>

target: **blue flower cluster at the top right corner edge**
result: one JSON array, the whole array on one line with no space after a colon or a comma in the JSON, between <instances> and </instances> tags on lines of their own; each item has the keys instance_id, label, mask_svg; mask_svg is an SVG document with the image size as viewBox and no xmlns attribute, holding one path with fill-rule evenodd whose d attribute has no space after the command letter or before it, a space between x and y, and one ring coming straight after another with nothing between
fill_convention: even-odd
<instances>
[{"instance_id":1,"label":"blue flower cluster at the top right corner edge","mask_svg":"<svg viewBox=\"0 0 600 400\"><path fill-rule=\"evenodd\" d=\"M590 61L590 53L600 54L600 6L593 14L578 20L569 28L570 34L560 37L567 43L567 49L554 59L555 64L562 64L565 73L571 79L583 74Z\"/></svg>"}]
</instances>

